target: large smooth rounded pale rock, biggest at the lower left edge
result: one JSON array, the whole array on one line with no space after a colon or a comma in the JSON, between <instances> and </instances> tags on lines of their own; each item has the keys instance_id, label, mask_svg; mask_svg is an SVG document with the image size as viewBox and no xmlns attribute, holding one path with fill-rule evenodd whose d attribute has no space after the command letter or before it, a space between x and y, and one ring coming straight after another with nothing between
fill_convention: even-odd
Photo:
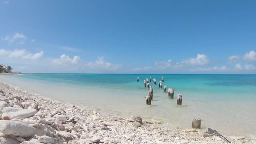
<instances>
[{"instance_id":1,"label":"large smooth rounded pale rock, biggest at the lower left edge","mask_svg":"<svg viewBox=\"0 0 256 144\"><path fill-rule=\"evenodd\" d=\"M18 121L0 120L0 131L6 135L31 137L35 134L36 129Z\"/></svg>"}]
</instances>

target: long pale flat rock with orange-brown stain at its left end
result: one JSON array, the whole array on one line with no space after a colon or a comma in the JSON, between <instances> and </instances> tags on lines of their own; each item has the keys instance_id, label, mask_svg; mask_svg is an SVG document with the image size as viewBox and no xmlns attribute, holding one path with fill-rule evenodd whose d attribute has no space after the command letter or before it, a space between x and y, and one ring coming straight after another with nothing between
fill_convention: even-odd
<instances>
[{"instance_id":1,"label":"long pale flat rock with orange-brown stain at its left end","mask_svg":"<svg viewBox=\"0 0 256 144\"><path fill-rule=\"evenodd\" d=\"M13 118L29 118L31 116L34 116L37 110L6 107L2 110L2 112L2 119L8 117L11 120Z\"/></svg>"}]
</instances>

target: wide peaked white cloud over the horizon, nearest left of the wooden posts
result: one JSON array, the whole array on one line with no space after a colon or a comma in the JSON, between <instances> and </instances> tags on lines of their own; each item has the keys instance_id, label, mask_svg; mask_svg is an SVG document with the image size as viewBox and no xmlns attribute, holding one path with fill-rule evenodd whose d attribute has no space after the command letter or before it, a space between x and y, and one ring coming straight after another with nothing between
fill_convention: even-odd
<instances>
[{"instance_id":1,"label":"wide peaked white cloud over the horizon, nearest left of the wooden posts","mask_svg":"<svg viewBox=\"0 0 256 144\"><path fill-rule=\"evenodd\" d=\"M96 70L118 70L122 65L105 62L103 57L98 56L98 60L95 62L88 62L87 64L84 64L84 66L88 66Z\"/></svg>"}]
</instances>

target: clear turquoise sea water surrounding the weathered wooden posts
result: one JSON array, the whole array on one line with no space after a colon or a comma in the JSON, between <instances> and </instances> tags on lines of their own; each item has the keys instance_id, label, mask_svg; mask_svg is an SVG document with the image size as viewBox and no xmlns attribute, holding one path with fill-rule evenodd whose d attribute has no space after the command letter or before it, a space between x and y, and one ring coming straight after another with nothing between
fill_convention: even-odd
<instances>
[{"instance_id":1,"label":"clear turquoise sea water surrounding the weathered wooden posts","mask_svg":"<svg viewBox=\"0 0 256 144\"><path fill-rule=\"evenodd\" d=\"M140 77L140 82L136 78ZM143 80L156 78L154 101L147 106ZM174 88L168 97L158 82ZM194 117L202 129L214 128L230 135L256 135L256 75L209 74L23 74L0 76L0 81L63 102L87 106L107 114L140 115L159 119L170 128L190 128ZM182 106L176 106L177 94Z\"/></svg>"}]
</instances>

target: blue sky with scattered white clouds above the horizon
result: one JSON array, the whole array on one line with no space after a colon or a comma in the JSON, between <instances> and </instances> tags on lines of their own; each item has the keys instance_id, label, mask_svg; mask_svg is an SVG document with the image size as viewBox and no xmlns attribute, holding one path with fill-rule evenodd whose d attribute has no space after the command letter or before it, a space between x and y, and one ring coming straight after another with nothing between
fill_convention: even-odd
<instances>
[{"instance_id":1,"label":"blue sky with scattered white clouds above the horizon","mask_svg":"<svg viewBox=\"0 0 256 144\"><path fill-rule=\"evenodd\" d=\"M0 0L14 72L256 74L255 0Z\"/></svg>"}]
</instances>

